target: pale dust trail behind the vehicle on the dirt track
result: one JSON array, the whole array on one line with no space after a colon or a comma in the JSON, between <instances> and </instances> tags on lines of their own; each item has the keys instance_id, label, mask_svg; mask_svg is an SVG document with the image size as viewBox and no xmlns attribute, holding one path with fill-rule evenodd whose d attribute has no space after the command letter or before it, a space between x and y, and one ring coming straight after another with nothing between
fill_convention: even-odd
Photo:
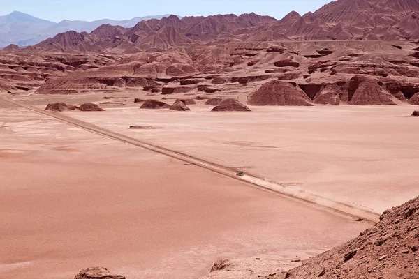
<instances>
[{"instance_id":1,"label":"pale dust trail behind the vehicle on the dirt track","mask_svg":"<svg viewBox=\"0 0 419 279\"><path fill-rule=\"evenodd\" d=\"M338 202L336 200L329 199L328 197L321 197L319 195L309 193L295 186L283 186L279 183L267 181L265 179L260 179L258 177L249 175L242 176L242 180L252 183L256 186L260 186L262 188L281 193L288 197L294 197L295 199L300 199L311 204L317 204L319 206L332 209L334 211L345 213L346 215L351 215L355 218L362 218L365 220L372 221L374 223L378 222L380 219L380 214L372 210L365 209L355 204L346 204L344 202Z\"/></svg>"}]
</instances>

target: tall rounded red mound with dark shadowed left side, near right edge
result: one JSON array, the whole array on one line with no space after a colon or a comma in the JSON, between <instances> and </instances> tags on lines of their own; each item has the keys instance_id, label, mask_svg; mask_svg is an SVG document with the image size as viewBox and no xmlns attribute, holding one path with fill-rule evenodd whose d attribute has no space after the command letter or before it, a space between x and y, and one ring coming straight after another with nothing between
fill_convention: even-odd
<instances>
[{"instance_id":1,"label":"tall rounded red mound with dark shadowed left side, near right edge","mask_svg":"<svg viewBox=\"0 0 419 279\"><path fill-rule=\"evenodd\" d=\"M372 78L355 75L348 88L349 105L396 105L392 95Z\"/></svg>"}]
</instances>

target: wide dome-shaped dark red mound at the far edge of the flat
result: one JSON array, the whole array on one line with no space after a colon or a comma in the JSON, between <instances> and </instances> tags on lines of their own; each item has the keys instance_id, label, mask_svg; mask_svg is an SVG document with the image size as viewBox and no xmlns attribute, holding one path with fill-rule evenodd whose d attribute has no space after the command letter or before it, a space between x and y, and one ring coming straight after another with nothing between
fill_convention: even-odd
<instances>
[{"instance_id":1,"label":"wide dome-shaped dark red mound at the far edge of the flat","mask_svg":"<svg viewBox=\"0 0 419 279\"><path fill-rule=\"evenodd\" d=\"M311 99L300 87L289 82L271 80L248 97L249 105L311 106Z\"/></svg>"}]
</instances>

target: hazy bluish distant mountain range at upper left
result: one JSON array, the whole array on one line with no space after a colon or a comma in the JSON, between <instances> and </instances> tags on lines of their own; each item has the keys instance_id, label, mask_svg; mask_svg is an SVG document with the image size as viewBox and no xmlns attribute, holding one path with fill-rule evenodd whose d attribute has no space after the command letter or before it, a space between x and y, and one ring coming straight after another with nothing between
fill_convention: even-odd
<instances>
[{"instance_id":1,"label":"hazy bluish distant mountain range at upper left","mask_svg":"<svg viewBox=\"0 0 419 279\"><path fill-rule=\"evenodd\" d=\"M165 15L150 15L146 17L135 17L131 20L95 20L87 22L82 20L63 20L51 22L41 20L26 13L13 12L10 15L0 16L0 47L15 44L19 46L35 45L58 33L66 31L86 31L90 33L102 24L119 25L122 27L133 27L142 20L161 19ZM167 15L166 15L167 16Z\"/></svg>"}]
</instances>

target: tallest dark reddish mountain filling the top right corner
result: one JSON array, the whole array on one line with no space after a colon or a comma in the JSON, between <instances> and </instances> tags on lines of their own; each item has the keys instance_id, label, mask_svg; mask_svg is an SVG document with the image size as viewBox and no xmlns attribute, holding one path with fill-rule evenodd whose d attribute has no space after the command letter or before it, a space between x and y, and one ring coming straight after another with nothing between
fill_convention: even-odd
<instances>
[{"instance_id":1,"label":"tallest dark reddish mountain filling the top right corner","mask_svg":"<svg viewBox=\"0 0 419 279\"><path fill-rule=\"evenodd\" d=\"M418 0L337 0L314 13L293 12L272 26L293 40L419 38Z\"/></svg>"}]
</instances>

